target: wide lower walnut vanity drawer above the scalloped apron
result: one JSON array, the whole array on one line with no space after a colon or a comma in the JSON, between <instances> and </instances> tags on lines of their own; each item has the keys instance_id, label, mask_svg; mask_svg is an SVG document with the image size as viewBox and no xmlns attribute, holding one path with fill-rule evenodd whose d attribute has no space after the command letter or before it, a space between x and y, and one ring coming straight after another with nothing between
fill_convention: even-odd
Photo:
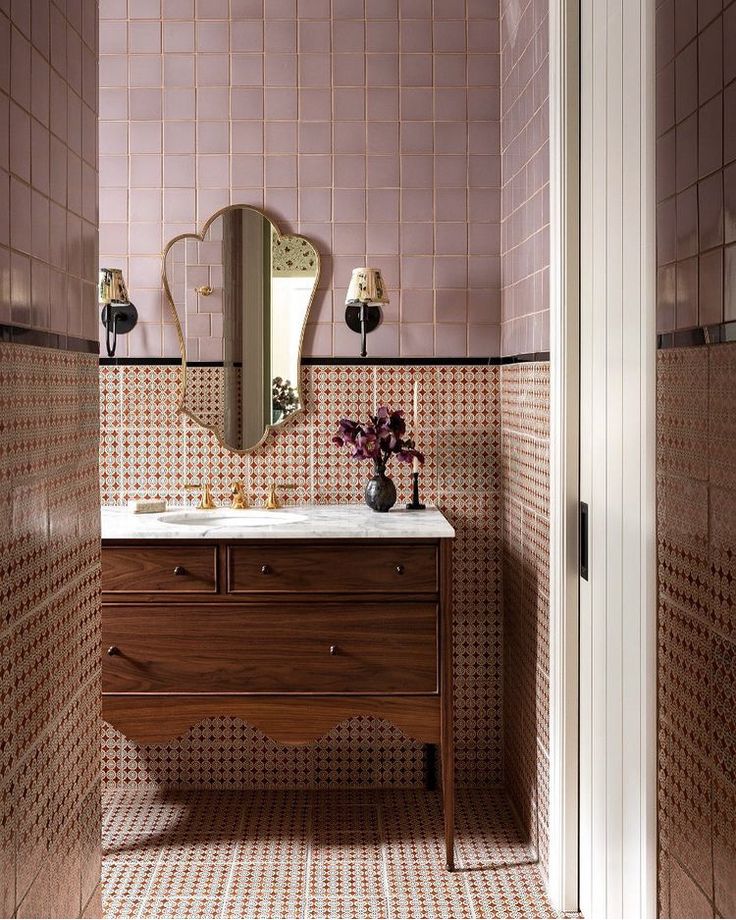
<instances>
[{"instance_id":1,"label":"wide lower walnut vanity drawer above the scalloped apron","mask_svg":"<svg viewBox=\"0 0 736 920\"><path fill-rule=\"evenodd\" d=\"M106 693L437 691L434 604L107 604L102 621Z\"/></svg>"}]
</instances>

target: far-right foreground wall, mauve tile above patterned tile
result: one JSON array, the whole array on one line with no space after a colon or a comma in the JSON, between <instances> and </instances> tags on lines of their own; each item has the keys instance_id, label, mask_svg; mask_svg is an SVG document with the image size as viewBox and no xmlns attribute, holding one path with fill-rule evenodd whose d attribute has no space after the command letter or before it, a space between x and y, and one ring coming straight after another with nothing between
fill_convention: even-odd
<instances>
[{"instance_id":1,"label":"far-right foreground wall, mauve tile above patterned tile","mask_svg":"<svg viewBox=\"0 0 736 920\"><path fill-rule=\"evenodd\" d=\"M656 17L657 328L671 332L736 320L736 3L661 0ZM736 344L659 350L661 917L736 915L734 394Z\"/></svg>"}]
</instances>

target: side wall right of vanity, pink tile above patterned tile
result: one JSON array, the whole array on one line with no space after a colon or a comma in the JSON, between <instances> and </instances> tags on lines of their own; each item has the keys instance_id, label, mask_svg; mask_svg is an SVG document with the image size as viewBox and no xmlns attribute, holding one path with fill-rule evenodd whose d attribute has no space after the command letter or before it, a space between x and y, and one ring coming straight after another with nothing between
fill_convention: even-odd
<instances>
[{"instance_id":1,"label":"side wall right of vanity, pink tile above patterned tile","mask_svg":"<svg viewBox=\"0 0 736 920\"><path fill-rule=\"evenodd\" d=\"M549 350L548 0L501 0L501 354ZM548 869L549 364L501 368L504 771Z\"/></svg>"}]
</instances>

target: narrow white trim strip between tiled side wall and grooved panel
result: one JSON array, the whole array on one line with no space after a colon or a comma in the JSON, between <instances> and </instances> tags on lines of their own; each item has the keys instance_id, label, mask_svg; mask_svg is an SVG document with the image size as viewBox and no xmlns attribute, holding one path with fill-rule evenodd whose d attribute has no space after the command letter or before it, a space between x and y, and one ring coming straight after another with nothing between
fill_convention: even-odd
<instances>
[{"instance_id":1,"label":"narrow white trim strip between tiled side wall and grooved panel","mask_svg":"<svg viewBox=\"0 0 736 920\"><path fill-rule=\"evenodd\" d=\"M578 475L580 433L578 0L550 0L549 896L578 909Z\"/></svg>"}]
</instances>

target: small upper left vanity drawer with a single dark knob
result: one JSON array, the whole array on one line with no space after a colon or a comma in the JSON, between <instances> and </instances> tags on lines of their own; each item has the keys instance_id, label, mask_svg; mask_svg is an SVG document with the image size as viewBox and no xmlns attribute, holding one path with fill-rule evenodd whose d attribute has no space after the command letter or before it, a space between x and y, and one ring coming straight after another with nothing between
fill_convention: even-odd
<instances>
[{"instance_id":1,"label":"small upper left vanity drawer with a single dark knob","mask_svg":"<svg viewBox=\"0 0 736 920\"><path fill-rule=\"evenodd\" d=\"M108 593L217 591L214 546L105 546L102 590Z\"/></svg>"}]
</instances>

